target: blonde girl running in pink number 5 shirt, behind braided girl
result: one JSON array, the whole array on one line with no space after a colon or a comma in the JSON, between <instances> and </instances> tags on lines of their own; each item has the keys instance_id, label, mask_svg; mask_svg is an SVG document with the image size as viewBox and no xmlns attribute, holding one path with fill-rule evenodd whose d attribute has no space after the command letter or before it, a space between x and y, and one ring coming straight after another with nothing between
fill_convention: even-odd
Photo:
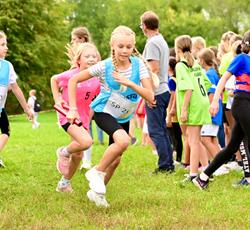
<instances>
[{"instance_id":1,"label":"blonde girl running in pink number 5 shirt, behind braided girl","mask_svg":"<svg viewBox=\"0 0 250 230\"><path fill-rule=\"evenodd\" d=\"M68 103L68 81L76 73L97 63L98 51L93 44L82 43L77 46L75 53L75 64L77 68L68 70L51 78L51 88L55 104L62 106ZM60 89L60 90L59 90ZM62 90L62 91L61 91ZM88 133L90 122L89 105L92 99L99 93L100 83L97 78L77 84L77 101L75 109L79 111L82 126L70 124L67 118L59 114L62 128L70 135L72 141L66 147L57 150L57 169L62 174L56 191L72 192L70 180L73 177L82 159L82 151L88 149L92 144L92 138Z\"/></svg>"}]
</instances>

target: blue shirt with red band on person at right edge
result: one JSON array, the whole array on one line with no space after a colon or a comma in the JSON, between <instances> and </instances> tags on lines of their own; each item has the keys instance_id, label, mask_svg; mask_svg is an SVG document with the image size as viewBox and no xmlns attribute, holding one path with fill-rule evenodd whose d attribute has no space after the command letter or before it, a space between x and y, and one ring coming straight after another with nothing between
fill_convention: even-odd
<instances>
[{"instance_id":1,"label":"blue shirt with red band on person at right edge","mask_svg":"<svg viewBox=\"0 0 250 230\"><path fill-rule=\"evenodd\" d=\"M237 55L227 71L235 76L235 93L250 93L250 56L244 53Z\"/></svg>"}]
</instances>

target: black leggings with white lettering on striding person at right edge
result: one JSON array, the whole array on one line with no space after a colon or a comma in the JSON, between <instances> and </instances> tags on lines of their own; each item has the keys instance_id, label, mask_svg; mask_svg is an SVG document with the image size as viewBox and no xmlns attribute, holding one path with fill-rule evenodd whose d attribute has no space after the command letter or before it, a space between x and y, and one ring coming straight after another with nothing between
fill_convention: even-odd
<instances>
[{"instance_id":1,"label":"black leggings with white lettering on striding person at right edge","mask_svg":"<svg viewBox=\"0 0 250 230\"><path fill-rule=\"evenodd\" d=\"M222 149L204 173L211 176L221 165L230 160L237 152L243 141L245 151L241 152L245 177L250 177L250 93L236 93L232 105L232 114L235 119L234 127L231 131L231 139L228 145Z\"/></svg>"}]
</instances>

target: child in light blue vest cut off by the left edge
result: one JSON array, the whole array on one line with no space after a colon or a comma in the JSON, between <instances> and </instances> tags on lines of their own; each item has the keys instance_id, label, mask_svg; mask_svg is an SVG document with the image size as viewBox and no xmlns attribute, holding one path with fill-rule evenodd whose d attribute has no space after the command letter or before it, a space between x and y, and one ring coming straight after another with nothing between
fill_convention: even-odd
<instances>
[{"instance_id":1,"label":"child in light blue vest cut off by the left edge","mask_svg":"<svg viewBox=\"0 0 250 230\"><path fill-rule=\"evenodd\" d=\"M9 120L7 112L5 109L5 102L7 99L8 90L12 90L15 94L18 102L22 106L24 112L27 114L28 118L33 119L33 113L29 109L28 104L26 103L25 97L22 90L17 84L17 75L14 70L13 65L4 60L8 52L7 46L7 36L3 31L0 31L0 152L3 150L4 146L7 144L7 141L10 136ZM3 160L0 159L0 167L5 167Z\"/></svg>"}]
</instances>

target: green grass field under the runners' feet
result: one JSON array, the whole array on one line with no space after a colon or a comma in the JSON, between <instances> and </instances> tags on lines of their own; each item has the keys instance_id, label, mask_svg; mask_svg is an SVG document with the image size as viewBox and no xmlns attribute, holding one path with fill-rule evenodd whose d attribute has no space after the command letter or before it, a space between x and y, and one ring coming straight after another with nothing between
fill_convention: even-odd
<instances>
[{"instance_id":1,"label":"green grass field under the runners' feet","mask_svg":"<svg viewBox=\"0 0 250 230\"><path fill-rule=\"evenodd\" d=\"M87 200L80 172L73 194L56 193L55 150L69 137L55 113L41 113L39 121L33 130L24 116L10 118L11 137L1 152L7 167L0 169L0 229L249 229L250 188L231 186L241 173L216 178L207 191L181 188L185 170L151 175L157 158L140 145L129 147L107 187L110 208ZM94 163L104 150L94 144Z\"/></svg>"}]
</instances>

